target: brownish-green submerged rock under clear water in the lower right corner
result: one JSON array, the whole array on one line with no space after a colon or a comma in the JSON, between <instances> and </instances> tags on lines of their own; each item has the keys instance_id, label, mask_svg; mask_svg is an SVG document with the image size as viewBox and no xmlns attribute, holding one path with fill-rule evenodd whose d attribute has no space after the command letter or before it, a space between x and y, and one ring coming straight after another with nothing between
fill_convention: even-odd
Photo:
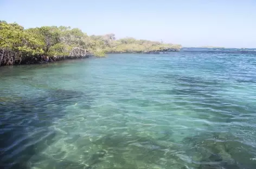
<instances>
[{"instance_id":1,"label":"brownish-green submerged rock under clear water in the lower right corner","mask_svg":"<svg viewBox=\"0 0 256 169\"><path fill-rule=\"evenodd\" d=\"M201 134L185 138L184 142L194 147L191 155L201 154L199 169L253 169L256 163L249 160L253 147L242 144L230 133ZM244 163L244 164L243 164Z\"/></svg>"}]
</instances>

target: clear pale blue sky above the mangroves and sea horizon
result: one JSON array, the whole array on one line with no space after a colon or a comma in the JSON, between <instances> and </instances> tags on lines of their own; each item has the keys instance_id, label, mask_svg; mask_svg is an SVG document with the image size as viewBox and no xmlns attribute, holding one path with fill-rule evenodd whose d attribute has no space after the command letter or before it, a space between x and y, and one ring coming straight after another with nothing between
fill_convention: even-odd
<instances>
[{"instance_id":1,"label":"clear pale blue sky above the mangroves and sea horizon","mask_svg":"<svg viewBox=\"0 0 256 169\"><path fill-rule=\"evenodd\" d=\"M256 48L256 0L0 0L0 20L24 28L64 25L88 35Z\"/></svg>"}]
</instances>

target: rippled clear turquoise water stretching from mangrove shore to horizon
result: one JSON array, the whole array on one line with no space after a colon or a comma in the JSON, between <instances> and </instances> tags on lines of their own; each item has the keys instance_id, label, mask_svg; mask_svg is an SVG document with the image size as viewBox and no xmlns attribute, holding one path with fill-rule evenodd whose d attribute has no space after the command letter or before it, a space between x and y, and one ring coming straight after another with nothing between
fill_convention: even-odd
<instances>
[{"instance_id":1,"label":"rippled clear turquoise water stretching from mangrove shore to horizon","mask_svg":"<svg viewBox=\"0 0 256 169\"><path fill-rule=\"evenodd\" d=\"M256 166L256 52L0 68L1 168Z\"/></svg>"}]
</instances>

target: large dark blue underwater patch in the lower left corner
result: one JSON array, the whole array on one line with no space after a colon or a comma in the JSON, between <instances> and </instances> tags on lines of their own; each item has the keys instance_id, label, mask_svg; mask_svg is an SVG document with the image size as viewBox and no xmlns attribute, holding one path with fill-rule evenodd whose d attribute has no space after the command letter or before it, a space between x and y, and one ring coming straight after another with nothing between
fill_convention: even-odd
<instances>
[{"instance_id":1,"label":"large dark blue underwater patch in the lower left corner","mask_svg":"<svg viewBox=\"0 0 256 169\"><path fill-rule=\"evenodd\" d=\"M0 167L10 169L29 169L29 159L56 141L56 133L48 127L65 116L65 106L77 100L92 101L84 92L66 89L48 89L39 97L9 98L0 100Z\"/></svg>"}]
</instances>

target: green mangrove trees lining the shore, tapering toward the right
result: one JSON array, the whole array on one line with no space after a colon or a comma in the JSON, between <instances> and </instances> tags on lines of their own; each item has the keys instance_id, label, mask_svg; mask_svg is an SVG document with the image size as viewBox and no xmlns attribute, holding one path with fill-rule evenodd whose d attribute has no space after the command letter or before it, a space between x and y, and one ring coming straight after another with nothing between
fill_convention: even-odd
<instances>
[{"instance_id":1,"label":"green mangrove trees lining the shore, tapering toward the right","mask_svg":"<svg viewBox=\"0 0 256 169\"><path fill-rule=\"evenodd\" d=\"M43 26L24 29L17 23L0 21L0 66L181 48L181 45L131 37L116 40L114 34L88 36L78 28Z\"/></svg>"}]
</instances>

